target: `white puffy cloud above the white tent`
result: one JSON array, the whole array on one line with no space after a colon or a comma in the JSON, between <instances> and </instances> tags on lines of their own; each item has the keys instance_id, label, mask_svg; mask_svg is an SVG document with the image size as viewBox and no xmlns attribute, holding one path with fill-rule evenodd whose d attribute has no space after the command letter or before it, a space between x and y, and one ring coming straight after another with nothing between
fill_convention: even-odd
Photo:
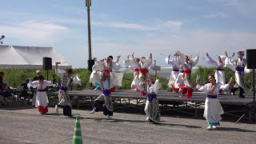
<instances>
[{"instance_id":1,"label":"white puffy cloud above the white tent","mask_svg":"<svg viewBox=\"0 0 256 144\"><path fill-rule=\"evenodd\" d=\"M22 43L40 45L61 40L70 29L51 22L26 21L13 26L0 26L0 31L6 35L6 39L14 38Z\"/></svg>"}]
</instances>

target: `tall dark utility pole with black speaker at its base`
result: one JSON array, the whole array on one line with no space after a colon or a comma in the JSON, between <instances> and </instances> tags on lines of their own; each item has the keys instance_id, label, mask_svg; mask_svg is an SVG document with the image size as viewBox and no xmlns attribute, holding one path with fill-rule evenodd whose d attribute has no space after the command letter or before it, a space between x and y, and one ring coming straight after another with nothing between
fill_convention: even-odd
<instances>
[{"instance_id":1,"label":"tall dark utility pole with black speaker at its base","mask_svg":"<svg viewBox=\"0 0 256 144\"><path fill-rule=\"evenodd\" d=\"M88 51L89 51L89 59L88 63L88 70L92 71L92 67L94 66L94 60L91 59L91 39L90 39L90 6L91 0L86 0L87 6L87 22L88 22Z\"/></svg>"}]
</instances>

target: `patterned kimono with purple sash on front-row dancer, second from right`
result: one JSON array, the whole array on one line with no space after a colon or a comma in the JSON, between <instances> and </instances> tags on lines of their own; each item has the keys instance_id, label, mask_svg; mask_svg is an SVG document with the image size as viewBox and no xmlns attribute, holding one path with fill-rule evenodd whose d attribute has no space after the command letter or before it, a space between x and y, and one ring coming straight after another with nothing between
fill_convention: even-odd
<instances>
[{"instance_id":1,"label":"patterned kimono with purple sash on front-row dancer, second from right","mask_svg":"<svg viewBox=\"0 0 256 144\"><path fill-rule=\"evenodd\" d=\"M159 102L157 98L158 90L162 87L159 80L156 80L154 85L147 86L147 98L146 105L144 111L146 113L146 117L150 119L152 122L159 123L160 122L160 110L159 110Z\"/></svg>"}]
</instances>

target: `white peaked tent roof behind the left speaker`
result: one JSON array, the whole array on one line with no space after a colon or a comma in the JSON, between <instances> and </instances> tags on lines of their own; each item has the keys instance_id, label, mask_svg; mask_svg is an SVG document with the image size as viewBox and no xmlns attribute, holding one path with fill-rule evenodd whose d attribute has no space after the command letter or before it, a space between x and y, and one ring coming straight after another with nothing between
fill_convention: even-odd
<instances>
[{"instance_id":1,"label":"white peaked tent roof behind the left speaker","mask_svg":"<svg viewBox=\"0 0 256 144\"><path fill-rule=\"evenodd\" d=\"M52 58L53 68L55 62L61 62L59 68L71 68L70 64L53 47L0 45L0 68L42 69L43 57Z\"/></svg>"}]
</instances>

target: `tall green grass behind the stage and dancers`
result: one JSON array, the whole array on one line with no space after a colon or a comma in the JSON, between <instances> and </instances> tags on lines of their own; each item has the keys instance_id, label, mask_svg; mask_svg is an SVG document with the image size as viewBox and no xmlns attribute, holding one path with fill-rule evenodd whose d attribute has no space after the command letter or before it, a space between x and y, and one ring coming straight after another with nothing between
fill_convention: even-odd
<instances>
[{"instance_id":1,"label":"tall green grass behind the stage and dancers","mask_svg":"<svg viewBox=\"0 0 256 144\"><path fill-rule=\"evenodd\" d=\"M82 90L90 89L91 84L89 82L90 78L90 71L87 69L80 69L80 78L82 80L82 86L74 85L74 89L79 88ZM213 67L199 67L197 71L195 71L194 74L192 74L192 81L193 85L195 86L195 79L197 75L200 75L200 83L206 84L208 82L208 75L213 74L213 71L215 68ZM26 81L26 79L34 78L36 76L35 69L2 69L0 70L5 73L4 76L4 82L8 83L8 86L17 87L21 85L23 82ZM46 78L46 70L41 70L42 75ZM52 75L54 74L54 70L49 70L49 79L52 78ZM225 68L225 75L226 75L226 82L230 81L230 78L232 77L232 83L231 86L235 83L234 78L234 71L230 70L229 68ZM154 78L154 75L150 75L151 78ZM117 89L130 89L130 84L133 81L134 74L124 74L122 79L122 86L117 86ZM58 83L61 82L61 79L57 76ZM161 90L168 90L171 89L167 86L167 83L169 82L166 78L158 78L160 82L162 83ZM246 90L253 90L253 74L246 74Z\"/></svg>"}]
</instances>

